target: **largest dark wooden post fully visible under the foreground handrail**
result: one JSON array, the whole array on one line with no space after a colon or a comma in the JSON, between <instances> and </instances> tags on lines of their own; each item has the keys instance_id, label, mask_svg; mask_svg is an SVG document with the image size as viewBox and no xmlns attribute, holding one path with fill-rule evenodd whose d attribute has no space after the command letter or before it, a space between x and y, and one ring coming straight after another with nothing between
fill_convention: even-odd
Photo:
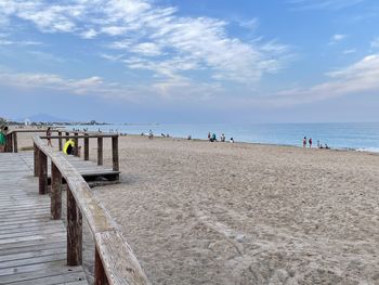
<instances>
[{"instance_id":1,"label":"largest dark wooden post fully visible under the foreground handrail","mask_svg":"<svg viewBox=\"0 0 379 285\"><path fill-rule=\"evenodd\" d=\"M75 197L67 186L67 265L82 263L82 217Z\"/></svg>"}]
</instances>

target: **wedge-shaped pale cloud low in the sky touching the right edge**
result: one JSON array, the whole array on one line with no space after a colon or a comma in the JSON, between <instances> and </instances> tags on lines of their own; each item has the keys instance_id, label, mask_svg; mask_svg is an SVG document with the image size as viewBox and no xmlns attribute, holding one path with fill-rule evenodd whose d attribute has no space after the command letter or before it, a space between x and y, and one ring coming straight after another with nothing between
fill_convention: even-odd
<instances>
[{"instance_id":1,"label":"wedge-shaped pale cloud low in the sky touching the right edge","mask_svg":"<svg viewBox=\"0 0 379 285\"><path fill-rule=\"evenodd\" d=\"M306 89L293 89L278 92L269 99L275 104L299 104L327 100L349 94L360 95L366 92L379 92L379 54L330 73L329 80Z\"/></svg>"}]
</instances>

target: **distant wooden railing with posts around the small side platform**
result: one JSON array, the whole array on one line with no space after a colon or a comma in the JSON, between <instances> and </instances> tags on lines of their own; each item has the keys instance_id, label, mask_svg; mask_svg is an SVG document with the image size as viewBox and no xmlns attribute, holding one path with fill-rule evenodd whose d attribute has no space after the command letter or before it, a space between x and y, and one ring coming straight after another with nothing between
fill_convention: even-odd
<instances>
[{"instance_id":1,"label":"distant wooden railing with posts around the small side platform","mask_svg":"<svg viewBox=\"0 0 379 285\"><path fill-rule=\"evenodd\" d=\"M17 133L19 132L29 132L29 133L42 133L47 132L45 129L36 129L36 130L28 130L28 129L16 129L12 130L6 133L6 145L5 145L5 152L9 153L17 153L18 152L18 142L17 142ZM40 137L41 139L51 139L51 140L57 140L58 141L58 150L63 150L63 140L67 141L69 139L73 139L75 142L75 145L79 145L79 139L83 139L83 159L89 160L90 159L90 139L96 139L97 140L97 165L103 165L104 163L104 146L103 146L103 140L106 138L112 139L112 167L114 171L119 171L119 157L118 157L118 134L117 133L100 133L100 132L86 132L86 131L69 131L69 130L51 130L52 133L57 133L57 135L50 135L48 137ZM64 133L64 134L63 134ZM79 156L79 148L74 148L74 155Z\"/></svg>"}]
</instances>

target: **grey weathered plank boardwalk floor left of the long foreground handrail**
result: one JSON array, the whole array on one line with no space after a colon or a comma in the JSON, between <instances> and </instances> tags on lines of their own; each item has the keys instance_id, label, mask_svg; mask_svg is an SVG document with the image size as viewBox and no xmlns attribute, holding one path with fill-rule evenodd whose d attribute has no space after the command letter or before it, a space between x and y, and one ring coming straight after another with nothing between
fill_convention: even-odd
<instances>
[{"instance_id":1,"label":"grey weathered plank boardwalk floor left of the long foreground handrail","mask_svg":"<svg viewBox=\"0 0 379 285\"><path fill-rule=\"evenodd\" d=\"M38 194L31 153L0 154L0 284L88 284L66 265L66 229Z\"/></svg>"}]
</instances>

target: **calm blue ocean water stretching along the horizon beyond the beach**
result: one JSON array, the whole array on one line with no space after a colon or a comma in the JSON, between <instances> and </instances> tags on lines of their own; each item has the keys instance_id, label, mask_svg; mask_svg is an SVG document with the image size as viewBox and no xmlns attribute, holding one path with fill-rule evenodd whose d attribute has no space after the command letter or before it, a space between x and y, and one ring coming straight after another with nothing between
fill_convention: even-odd
<instances>
[{"instance_id":1,"label":"calm blue ocean water stretching along the horizon beyond the beach","mask_svg":"<svg viewBox=\"0 0 379 285\"><path fill-rule=\"evenodd\" d=\"M351 148L356 151L379 152L379 122L332 122L332 124L246 124L246 125L102 125L67 126L67 128L89 130L118 131L128 134L141 134L153 131L154 135L169 133L170 137L207 139L208 132L236 142L266 143L302 146L304 137L312 138L331 148Z\"/></svg>"}]
</instances>

